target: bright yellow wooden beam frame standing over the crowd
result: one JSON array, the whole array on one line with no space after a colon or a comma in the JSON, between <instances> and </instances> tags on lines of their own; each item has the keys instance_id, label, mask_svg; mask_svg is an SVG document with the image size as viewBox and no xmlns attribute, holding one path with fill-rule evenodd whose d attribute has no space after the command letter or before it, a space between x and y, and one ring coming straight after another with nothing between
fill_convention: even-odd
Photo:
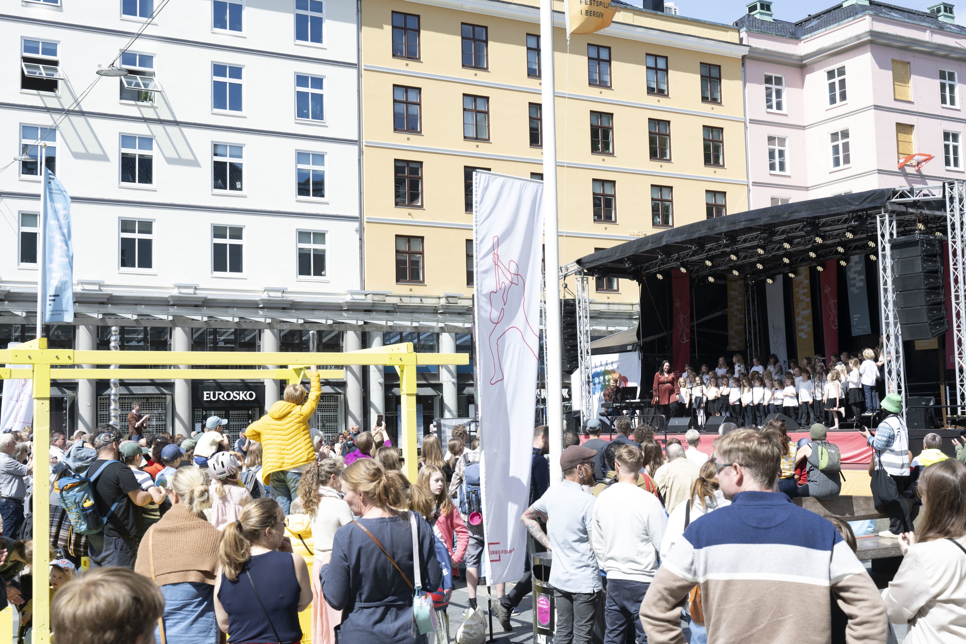
<instances>
[{"instance_id":1,"label":"bright yellow wooden beam frame standing over the crowd","mask_svg":"<svg viewBox=\"0 0 966 644\"><path fill-rule=\"evenodd\" d=\"M0 379L34 380L34 614L33 641L50 642L50 602L47 575L50 553L44 547L50 532L50 380L140 378L166 379L304 379L308 365L391 366L399 373L402 398L402 448L410 481L416 479L416 368L422 365L468 365L467 353L416 353L412 343L387 345L344 353L223 352L223 351L88 351L47 349L46 338L31 340L14 349L0 350L0 364L28 365L27 369L0 368ZM284 369L191 369L193 365L260 366L287 364ZM167 369L80 369L75 365L161 365ZM178 365L186 365L187 368ZM342 378L344 370L320 370L322 378ZM8 639L8 636L10 639ZM12 611L0 613L0 644L13 639Z\"/></svg>"}]
</instances>

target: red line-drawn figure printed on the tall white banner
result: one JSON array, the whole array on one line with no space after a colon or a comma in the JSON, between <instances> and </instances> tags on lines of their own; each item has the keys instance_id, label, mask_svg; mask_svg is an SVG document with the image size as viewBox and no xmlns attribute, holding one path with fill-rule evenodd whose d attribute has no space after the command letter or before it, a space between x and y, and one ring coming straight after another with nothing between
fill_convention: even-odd
<instances>
[{"instance_id":1,"label":"red line-drawn figure printed on the tall white banner","mask_svg":"<svg viewBox=\"0 0 966 644\"><path fill-rule=\"evenodd\" d=\"M526 343L526 348L537 357L540 347L540 336L533 330L526 319L526 281L520 274L519 266L513 260L505 265L499 259L499 238L493 238L493 264L496 289L490 292L490 353L496 372L490 378L490 384L496 384L503 379L503 364L499 355L499 342L510 331L515 331Z\"/></svg>"}]
</instances>

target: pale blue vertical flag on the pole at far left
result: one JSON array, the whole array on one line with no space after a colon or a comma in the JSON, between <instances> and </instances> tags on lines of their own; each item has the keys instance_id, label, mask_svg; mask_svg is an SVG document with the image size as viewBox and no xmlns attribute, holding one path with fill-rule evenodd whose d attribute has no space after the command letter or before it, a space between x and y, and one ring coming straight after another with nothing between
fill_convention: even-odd
<instances>
[{"instance_id":1,"label":"pale blue vertical flag on the pole at far left","mask_svg":"<svg viewBox=\"0 0 966 644\"><path fill-rule=\"evenodd\" d=\"M73 322L73 241L71 196L57 178L43 169L46 210L43 212L43 322Z\"/></svg>"}]
</instances>

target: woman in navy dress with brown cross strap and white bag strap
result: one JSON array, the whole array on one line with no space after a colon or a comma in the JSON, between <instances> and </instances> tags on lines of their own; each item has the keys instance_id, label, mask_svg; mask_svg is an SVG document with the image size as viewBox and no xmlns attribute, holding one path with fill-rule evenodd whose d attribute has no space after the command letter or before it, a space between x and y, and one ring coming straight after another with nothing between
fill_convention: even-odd
<instances>
[{"instance_id":1,"label":"woman in navy dress with brown cross strap and white bag strap","mask_svg":"<svg viewBox=\"0 0 966 644\"><path fill-rule=\"evenodd\" d=\"M336 531L332 557L322 568L326 602L342 611L340 642L426 641L426 635L412 636L415 565L424 591L440 588L442 571L432 528L419 513L397 510L411 502L398 480L405 477L397 474L401 473L389 474L379 462L364 459L346 467L340 476L346 503L358 517ZM420 499L416 505L422 505ZM411 517L416 524L415 564Z\"/></svg>"}]
</instances>

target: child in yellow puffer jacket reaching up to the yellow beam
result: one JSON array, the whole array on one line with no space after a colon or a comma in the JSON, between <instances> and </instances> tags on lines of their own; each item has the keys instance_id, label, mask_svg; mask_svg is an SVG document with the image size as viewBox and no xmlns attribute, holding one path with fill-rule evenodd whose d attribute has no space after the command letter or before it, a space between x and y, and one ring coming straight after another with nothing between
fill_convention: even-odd
<instances>
[{"instance_id":1,"label":"child in yellow puffer jacket reaching up to the yellow beam","mask_svg":"<svg viewBox=\"0 0 966 644\"><path fill-rule=\"evenodd\" d=\"M315 462L308 419L322 397L319 369L312 365L311 387L305 398L305 387L290 384L283 400L277 401L265 414L241 434L262 443L262 482L269 486L282 510L288 515L292 501L298 498L298 481L309 464ZM302 402L304 401L304 403Z\"/></svg>"}]
</instances>

